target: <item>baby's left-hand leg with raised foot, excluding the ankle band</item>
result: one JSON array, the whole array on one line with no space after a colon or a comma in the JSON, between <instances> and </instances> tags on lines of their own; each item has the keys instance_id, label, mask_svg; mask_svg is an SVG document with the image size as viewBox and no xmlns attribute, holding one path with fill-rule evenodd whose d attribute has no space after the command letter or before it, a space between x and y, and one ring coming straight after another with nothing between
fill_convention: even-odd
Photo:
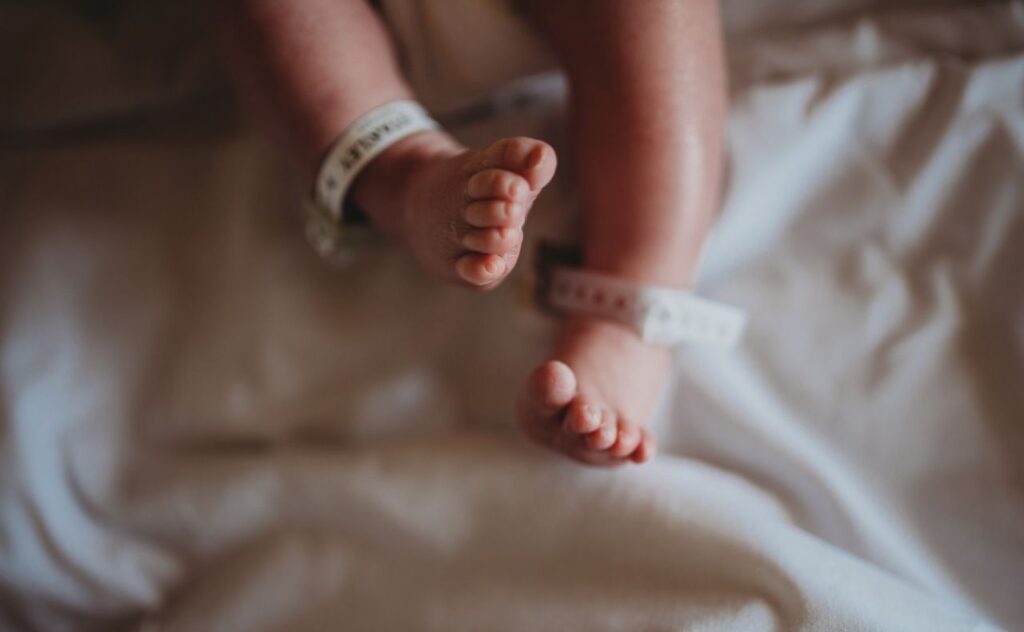
<instances>
[{"instance_id":1,"label":"baby's left-hand leg with raised foot, excluding the ankle band","mask_svg":"<svg viewBox=\"0 0 1024 632\"><path fill-rule=\"evenodd\" d=\"M243 91L308 175L357 117L412 98L366 0L208 4ZM476 152L420 132L377 157L349 195L431 275L490 288L515 264L526 213L554 169L554 152L531 138Z\"/></svg>"}]
</instances>

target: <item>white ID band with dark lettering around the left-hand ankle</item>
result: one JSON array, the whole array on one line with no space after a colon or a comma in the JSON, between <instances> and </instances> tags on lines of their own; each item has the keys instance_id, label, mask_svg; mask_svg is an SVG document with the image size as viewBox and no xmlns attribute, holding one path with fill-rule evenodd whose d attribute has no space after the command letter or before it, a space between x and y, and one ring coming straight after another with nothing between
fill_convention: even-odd
<instances>
[{"instance_id":1,"label":"white ID band with dark lettering around the left-hand ankle","mask_svg":"<svg viewBox=\"0 0 1024 632\"><path fill-rule=\"evenodd\" d=\"M407 136L438 127L412 100L374 108L346 127L321 164L311 203L306 205L306 236L313 249L327 258L342 249L345 194L374 158Z\"/></svg>"}]
</instances>

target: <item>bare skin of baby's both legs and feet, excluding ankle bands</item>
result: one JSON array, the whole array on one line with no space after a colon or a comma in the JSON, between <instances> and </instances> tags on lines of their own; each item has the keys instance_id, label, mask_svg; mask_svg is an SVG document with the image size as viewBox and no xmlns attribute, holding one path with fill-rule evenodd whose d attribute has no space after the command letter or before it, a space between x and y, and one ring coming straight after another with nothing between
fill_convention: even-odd
<instances>
[{"instance_id":1,"label":"bare skin of baby's both legs and feet, excluding ankle bands","mask_svg":"<svg viewBox=\"0 0 1024 632\"><path fill-rule=\"evenodd\" d=\"M243 91L308 174L351 121L415 98L365 0L221 0L217 31ZM689 286L718 204L725 73L714 0L524 0L569 80L586 267ZM353 200L424 271L471 288L515 265L529 208L556 167L544 141L471 150L443 131L392 145ZM568 318L526 379L527 436L591 465L643 463L668 350L620 325Z\"/></svg>"}]
</instances>

